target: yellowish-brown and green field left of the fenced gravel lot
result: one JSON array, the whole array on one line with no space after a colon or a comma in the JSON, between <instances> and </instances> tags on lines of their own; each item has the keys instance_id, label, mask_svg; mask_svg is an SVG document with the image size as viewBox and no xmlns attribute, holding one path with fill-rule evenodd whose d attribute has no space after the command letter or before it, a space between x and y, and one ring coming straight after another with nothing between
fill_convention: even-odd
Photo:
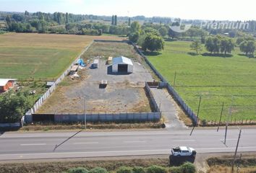
<instances>
[{"instance_id":1,"label":"yellowish-brown and green field left of the fenced gravel lot","mask_svg":"<svg viewBox=\"0 0 256 173\"><path fill-rule=\"evenodd\" d=\"M0 78L56 79L94 39L122 38L17 33L0 35Z\"/></svg>"}]
</instances>

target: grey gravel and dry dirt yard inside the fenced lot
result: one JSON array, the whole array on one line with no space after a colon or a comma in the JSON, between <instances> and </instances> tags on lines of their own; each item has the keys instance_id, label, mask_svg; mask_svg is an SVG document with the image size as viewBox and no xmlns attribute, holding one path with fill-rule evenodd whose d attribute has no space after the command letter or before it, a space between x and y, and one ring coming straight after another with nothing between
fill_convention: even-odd
<instances>
[{"instance_id":1,"label":"grey gravel and dry dirt yard inside the fenced lot","mask_svg":"<svg viewBox=\"0 0 256 173\"><path fill-rule=\"evenodd\" d=\"M125 43L120 44L124 47ZM130 46L127 44L127 48ZM88 66L78 72L80 79L67 76L37 113L83 113L85 107L93 113L151 112L143 87L145 81L153 78L136 58L132 58L132 62L132 74L112 74L111 65L106 65L106 58L101 57L98 68ZM99 87L101 80L108 81L105 89Z\"/></svg>"}]
</instances>

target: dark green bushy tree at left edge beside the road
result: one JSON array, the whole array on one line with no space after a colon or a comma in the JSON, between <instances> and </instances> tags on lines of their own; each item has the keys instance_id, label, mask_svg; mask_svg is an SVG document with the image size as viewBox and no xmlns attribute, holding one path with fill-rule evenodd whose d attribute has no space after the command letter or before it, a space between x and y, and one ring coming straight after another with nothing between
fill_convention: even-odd
<instances>
[{"instance_id":1,"label":"dark green bushy tree at left edge beside the road","mask_svg":"<svg viewBox=\"0 0 256 173\"><path fill-rule=\"evenodd\" d=\"M1 94L0 123L17 123L32 106L29 92L12 91Z\"/></svg>"}]
</instances>

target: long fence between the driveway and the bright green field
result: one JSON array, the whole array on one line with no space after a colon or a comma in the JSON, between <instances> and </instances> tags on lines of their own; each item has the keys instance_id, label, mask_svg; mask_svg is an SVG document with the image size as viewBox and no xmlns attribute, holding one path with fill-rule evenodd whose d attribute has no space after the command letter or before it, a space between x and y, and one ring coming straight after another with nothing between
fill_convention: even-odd
<instances>
[{"instance_id":1,"label":"long fence between the driveway and the bright green field","mask_svg":"<svg viewBox=\"0 0 256 173\"><path fill-rule=\"evenodd\" d=\"M159 85L162 87L166 87L166 89L168 90L168 93L174 97L174 99L182 107L184 112L187 115L189 115L189 117L191 117L194 123L197 123L197 115L195 115L195 113L191 110L191 108L183 101L182 97L179 96L179 94L175 91L175 89L171 86L171 84L168 84L168 81L166 81L166 79L163 78L163 76L156 70L156 68L152 65L152 63L148 61L148 58L144 56L144 54L140 51L137 45L135 45L134 43L132 43L132 45L134 46L137 53L139 53L140 56L142 56L145 59L146 63L148 63L148 66L150 66L150 68L154 71L155 75L158 76L158 78L161 79L161 81L163 81Z\"/></svg>"}]
</instances>

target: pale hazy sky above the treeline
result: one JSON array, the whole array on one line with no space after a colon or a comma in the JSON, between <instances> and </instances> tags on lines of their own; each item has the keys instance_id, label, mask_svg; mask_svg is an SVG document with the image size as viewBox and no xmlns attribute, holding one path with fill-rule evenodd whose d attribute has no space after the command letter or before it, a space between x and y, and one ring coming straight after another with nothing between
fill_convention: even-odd
<instances>
[{"instance_id":1,"label":"pale hazy sky above the treeline","mask_svg":"<svg viewBox=\"0 0 256 173\"><path fill-rule=\"evenodd\" d=\"M256 20L255 0L0 0L4 12Z\"/></svg>"}]
</instances>

